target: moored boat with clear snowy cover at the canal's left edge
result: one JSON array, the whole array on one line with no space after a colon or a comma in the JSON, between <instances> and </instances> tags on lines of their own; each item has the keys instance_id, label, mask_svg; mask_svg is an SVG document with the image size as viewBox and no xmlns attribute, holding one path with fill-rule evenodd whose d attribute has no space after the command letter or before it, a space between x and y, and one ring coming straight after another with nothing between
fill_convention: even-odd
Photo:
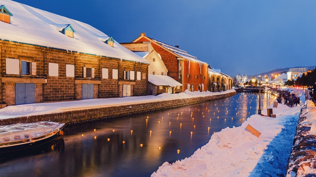
<instances>
[{"instance_id":1,"label":"moored boat with clear snowy cover at the canal's left edge","mask_svg":"<svg viewBox=\"0 0 316 177\"><path fill-rule=\"evenodd\" d=\"M0 126L0 154L40 146L63 138L64 123L35 122Z\"/></svg>"}]
</instances>

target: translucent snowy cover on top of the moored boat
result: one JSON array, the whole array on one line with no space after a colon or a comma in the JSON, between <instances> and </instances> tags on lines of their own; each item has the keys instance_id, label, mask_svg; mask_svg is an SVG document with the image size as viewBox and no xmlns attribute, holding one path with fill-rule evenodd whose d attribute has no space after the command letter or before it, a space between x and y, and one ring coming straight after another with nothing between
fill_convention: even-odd
<instances>
[{"instance_id":1,"label":"translucent snowy cover on top of the moored boat","mask_svg":"<svg viewBox=\"0 0 316 177\"><path fill-rule=\"evenodd\" d=\"M64 123L35 122L0 126L0 143L28 140L59 130Z\"/></svg>"}]
</instances>

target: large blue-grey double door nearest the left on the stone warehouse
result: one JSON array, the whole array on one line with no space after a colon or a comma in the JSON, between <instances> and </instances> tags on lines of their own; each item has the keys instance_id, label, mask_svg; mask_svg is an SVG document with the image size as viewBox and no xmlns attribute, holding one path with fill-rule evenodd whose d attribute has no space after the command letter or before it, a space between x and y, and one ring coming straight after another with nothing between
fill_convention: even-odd
<instances>
[{"instance_id":1,"label":"large blue-grey double door nearest the left on the stone warehouse","mask_svg":"<svg viewBox=\"0 0 316 177\"><path fill-rule=\"evenodd\" d=\"M35 83L15 83L15 105L35 103Z\"/></svg>"}]
</instances>

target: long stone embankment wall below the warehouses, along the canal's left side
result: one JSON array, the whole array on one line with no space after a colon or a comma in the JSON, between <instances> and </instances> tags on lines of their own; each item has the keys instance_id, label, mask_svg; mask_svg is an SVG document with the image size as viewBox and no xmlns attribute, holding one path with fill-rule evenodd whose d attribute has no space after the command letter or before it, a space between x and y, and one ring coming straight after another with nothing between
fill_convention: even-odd
<instances>
[{"instance_id":1,"label":"long stone embankment wall below the warehouses, along the canal's left side","mask_svg":"<svg viewBox=\"0 0 316 177\"><path fill-rule=\"evenodd\" d=\"M188 99L176 99L176 100L166 100L166 101L155 101L149 103L138 103L131 105L122 105L122 106L110 106L110 107L101 107L93 109L83 109L76 111L66 111L58 112L44 115L36 116L25 116L25 117L15 117L9 119L1 119L0 125L9 125L15 123L31 123L39 121L51 121L59 122L66 124L82 123L86 121L99 120L111 117L119 117L130 114L136 114L140 112L147 112L177 106L190 105L194 103L201 103L212 100L219 100L222 98L227 98L235 95L236 92L231 92L228 94L206 96L206 97L196 97Z\"/></svg>"}]
</instances>

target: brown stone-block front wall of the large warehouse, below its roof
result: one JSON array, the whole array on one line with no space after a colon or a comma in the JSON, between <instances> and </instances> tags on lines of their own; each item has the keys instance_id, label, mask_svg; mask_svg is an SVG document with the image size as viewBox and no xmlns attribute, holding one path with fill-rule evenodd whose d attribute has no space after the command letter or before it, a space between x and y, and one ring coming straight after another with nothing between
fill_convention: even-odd
<instances>
[{"instance_id":1,"label":"brown stone-block front wall of the large warehouse, below its roof","mask_svg":"<svg viewBox=\"0 0 316 177\"><path fill-rule=\"evenodd\" d=\"M1 105L15 104L15 83L3 82L3 78L35 79L35 103L81 100L82 83L94 83L94 98L119 97L119 81L123 81L123 71L135 71L136 85L133 87L134 96L147 95L148 65L132 61L80 54L58 49L20 44L0 40L1 49ZM6 74L6 58L36 62L36 76ZM49 63L58 64L58 77L48 75ZM75 66L75 77L66 77L66 65ZM20 64L21 65L21 64ZM94 78L83 77L83 67L94 68ZM108 68L108 79L102 79L102 68ZM119 69L119 79L112 79L112 69ZM136 73L140 71L142 78L136 80ZM41 83L39 80L47 80ZM25 80L23 81L25 82ZM29 80L27 81L29 83ZM97 83L96 83L97 82Z\"/></svg>"}]
</instances>

